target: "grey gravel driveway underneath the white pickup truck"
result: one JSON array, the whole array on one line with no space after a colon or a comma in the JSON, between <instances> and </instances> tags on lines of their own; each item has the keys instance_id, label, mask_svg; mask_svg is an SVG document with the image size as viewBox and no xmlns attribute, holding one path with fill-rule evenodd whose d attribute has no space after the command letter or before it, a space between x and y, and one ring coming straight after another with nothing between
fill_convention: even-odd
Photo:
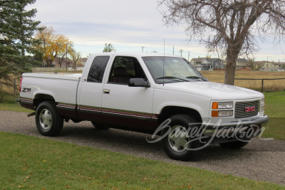
<instances>
[{"instance_id":1,"label":"grey gravel driveway underneath the white pickup truck","mask_svg":"<svg viewBox=\"0 0 285 190\"><path fill-rule=\"evenodd\" d=\"M167 157L160 142L146 142L146 138L150 138L148 134L114 129L100 131L90 122L68 122L64 124L63 131L58 137L43 137L36 129L34 117L27 117L24 112L0 111L0 131L108 149L137 157L285 185L285 141L254 138L243 149L234 151L211 144L201 152L199 161L178 162Z\"/></svg>"}]
</instances>

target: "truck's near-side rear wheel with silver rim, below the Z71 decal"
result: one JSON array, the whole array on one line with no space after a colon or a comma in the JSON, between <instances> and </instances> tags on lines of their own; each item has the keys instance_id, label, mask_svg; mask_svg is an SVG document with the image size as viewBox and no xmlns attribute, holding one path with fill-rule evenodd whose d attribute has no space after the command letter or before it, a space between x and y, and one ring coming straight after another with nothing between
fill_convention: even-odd
<instances>
[{"instance_id":1,"label":"truck's near-side rear wheel with silver rim, below the Z71 decal","mask_svg":"<svg viewBox=\"0 0 285 190\"><path fill-rule=\"evenodd\" d=\"M63 118L53 101L44 101L36 109L36 127L44 136L53 137L63 129Z\"/></svg>"}]
</instances>

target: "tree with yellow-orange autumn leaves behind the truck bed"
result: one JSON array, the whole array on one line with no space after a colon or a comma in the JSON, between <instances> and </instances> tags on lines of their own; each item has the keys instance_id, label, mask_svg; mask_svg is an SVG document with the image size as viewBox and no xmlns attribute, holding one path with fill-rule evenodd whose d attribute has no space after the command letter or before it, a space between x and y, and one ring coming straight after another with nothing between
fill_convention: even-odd
<instances>
[{"instance_id":1,"label":"tree with yellow-orange autumn leaves behind the truck bed","mask_svg":"<svg viewBox=\"0 0 285 190\"><path fill-rule=\"evenodd\" d=\"M44 29L36 33L36 38L42 42L37 48L43 52L43 60L46 60L47 67L51 67L56 57L61 57L59 63L61 67L66 53L71 53L73 43L69 41L68 37L55 33L52 26L42 27Z\"/></svg>"}]
</instances>

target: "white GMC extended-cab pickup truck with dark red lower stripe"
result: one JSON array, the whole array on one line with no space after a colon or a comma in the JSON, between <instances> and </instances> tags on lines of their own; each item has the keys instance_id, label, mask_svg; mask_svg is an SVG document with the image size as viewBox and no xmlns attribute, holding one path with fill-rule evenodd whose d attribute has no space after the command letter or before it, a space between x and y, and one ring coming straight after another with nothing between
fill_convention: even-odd
<instances>
[{"instance_id":1,"label":"white GMC extended-cab pickup truck with dark red lower stripe","mask_svg":"<svg viewBox=\"0 0 285 190\"><path fill-rule=\"evenodd\" d=\"M20 92L43 135L86 120L98 130L160 135L179 160L210 143L244 147L269 120L262 93L211 83L184 58L158 53L95 53L82 74L24 73Z\"/></svg>"}]
</instances>

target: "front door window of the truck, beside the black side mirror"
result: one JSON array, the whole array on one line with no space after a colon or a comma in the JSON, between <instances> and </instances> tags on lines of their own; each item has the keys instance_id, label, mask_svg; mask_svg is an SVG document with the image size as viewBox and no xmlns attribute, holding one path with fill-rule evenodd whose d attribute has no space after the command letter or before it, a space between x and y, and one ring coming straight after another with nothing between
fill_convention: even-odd
<instances>
[{"instance_id":1,"label":"front door window of the truck, beside the black side mirror","mask_svg":"<svg viewBox=\"0 0 285 190\"><path fill-rule=\"evenodd\" d=\"M144 78L147 80L136 58L117 56L110 70L108 82L128 84L131 78Z\"/></svg>"}]
</instances>

